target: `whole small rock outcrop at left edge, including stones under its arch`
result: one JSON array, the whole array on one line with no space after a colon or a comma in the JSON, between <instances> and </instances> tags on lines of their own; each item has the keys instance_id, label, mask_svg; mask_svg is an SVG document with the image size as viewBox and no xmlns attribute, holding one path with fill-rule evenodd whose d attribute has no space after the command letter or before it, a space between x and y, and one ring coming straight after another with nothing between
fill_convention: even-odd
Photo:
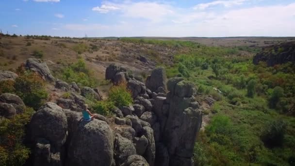
<instances>
[{"instance_id":1,"label":"whole small rock outcrop at left edge, including stones under its arch","mask_svg":"<svg viewBox=\"0 0 295 166\"><path fill-rule=\"evenodd\" d=\"M1 104L6 103L6 104ZM5 111L3 107L8 108L6 111L8 115L15 115L23 113L24 109L26 108L24 102L16 95L10 93L3 93L0 95L0 104L2 105L2 111ZM13 108L14 109L13 109ZM15 111L14 111L15 110Z\"/></svg>"}]
</instances>

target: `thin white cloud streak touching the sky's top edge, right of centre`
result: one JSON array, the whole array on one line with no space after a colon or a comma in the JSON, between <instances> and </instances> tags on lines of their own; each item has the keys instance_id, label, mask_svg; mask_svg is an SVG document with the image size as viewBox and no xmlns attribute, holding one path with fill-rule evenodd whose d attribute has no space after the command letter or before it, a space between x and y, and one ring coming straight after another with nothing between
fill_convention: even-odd
<instances>
[{"instance_id":1,"label":"thin white cloud streak touching the sky's top edge, right of centre","mask_svg":"<svg viewBox=\"0 0 295 166\"><path fill-rule=\"evenodd\" d=\"M212 2L208 2L208 3L200 3L200 4L197 4L194 9L195 10L204 10L204 9L207 9L208 7L211 7L211 6L216 6L216 5L222 5L224 7L231 7L233 5L241 5L243 3L245 3L246 1L249 1L249 0L215 0L215 1L212 1Z\"/></svg>"}]
</instances>

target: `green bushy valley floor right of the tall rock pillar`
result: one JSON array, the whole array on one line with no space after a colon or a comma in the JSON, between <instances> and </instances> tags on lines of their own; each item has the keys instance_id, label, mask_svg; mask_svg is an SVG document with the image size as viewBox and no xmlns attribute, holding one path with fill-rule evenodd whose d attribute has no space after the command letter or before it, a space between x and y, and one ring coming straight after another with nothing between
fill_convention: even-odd
<instances>
[{"instance_id":1,"label":"green bushy valley floor right of the tall rock pillar","mask_svg":"<svg viewBox=\"0 0 295 166\"><path fill-rule=\"evenodd\" d=\"M175 56L166 74L217 100L204 113L213 118L199 133L196 166L294 165L295 118L286 116L295 115L294 63L255 66L237 48L200 45Z\"/></svg>"}]
</instances>

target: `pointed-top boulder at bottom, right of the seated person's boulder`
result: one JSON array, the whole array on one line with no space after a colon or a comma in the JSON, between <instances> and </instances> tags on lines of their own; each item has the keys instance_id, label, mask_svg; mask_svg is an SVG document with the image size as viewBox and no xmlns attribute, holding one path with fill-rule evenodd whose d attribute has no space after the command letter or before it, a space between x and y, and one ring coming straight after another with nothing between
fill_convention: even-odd
<instances>
[{"instance_id":1,"label":"pointed-top boulder at bottom, right of the seated person's boulder","mask_svg":"<svg viewBox=\"0 0 295 166\"><path fill-rule=\"evenodd\" d=\"M123 164L129 156L136 154L136 149L131 140L116 134L114 158L116 166Z\"/></svg>"}]
</instances>

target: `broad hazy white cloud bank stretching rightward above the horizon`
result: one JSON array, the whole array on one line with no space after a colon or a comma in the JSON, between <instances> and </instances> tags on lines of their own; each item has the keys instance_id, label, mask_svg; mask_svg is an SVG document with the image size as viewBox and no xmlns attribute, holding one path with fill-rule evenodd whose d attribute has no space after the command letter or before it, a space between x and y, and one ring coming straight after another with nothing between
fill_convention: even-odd
<instances>
[{"instance_id":1,"label":"broad hazy white cloud bank stretching rightward above the horizon","mask_svg":"<svg viewBox=\"0 0 295 166\"><path fill-rule=\"evenodd\" d=\"M146 6L143 4L154 5L158 11L150 6L143 9ZM120 10L119 15L114 15L116 23L67 24L64 33L81 36L85 33L89 36L295 36L295 3L222 11L180 9L159 2L117 5Z\"/></svg>"}]
</instances>

